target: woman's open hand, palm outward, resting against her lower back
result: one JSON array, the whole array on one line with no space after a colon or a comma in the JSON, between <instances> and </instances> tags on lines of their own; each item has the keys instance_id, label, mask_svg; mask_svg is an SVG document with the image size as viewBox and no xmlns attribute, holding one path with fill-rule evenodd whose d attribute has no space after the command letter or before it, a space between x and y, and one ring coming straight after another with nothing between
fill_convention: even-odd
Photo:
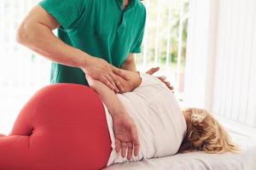
<instances>
[{"instance_id":1,"label":"woman's open hand, palm outward, resting against her lower back","mask_svg":"<svg viewBox=\"0 0 256 170\"><path fill-rule=\"evenodd\" d=\"M137 128L131 116L125 111L122 114L113 116L113 133L115 136L115 148L119 153L121 150L122 157L126 156L130 161L132 156L132 150L134 150L134 156L137 156L140 149L139 139L137 136Z\"/></svg>"}]
</instances>

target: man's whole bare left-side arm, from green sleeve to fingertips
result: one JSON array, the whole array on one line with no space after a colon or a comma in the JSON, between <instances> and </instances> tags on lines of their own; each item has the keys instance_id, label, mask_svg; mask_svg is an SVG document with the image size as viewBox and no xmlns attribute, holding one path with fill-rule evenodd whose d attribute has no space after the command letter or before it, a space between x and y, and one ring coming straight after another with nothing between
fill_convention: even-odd
<instances>
[{"instance_id":1,"label":"man's whole bare left-side arm, from green sleeve to fingertips","mask_svg":"<svg viewBox=\"0 0 256 170\"><path fill-rule=\"evenodd\" d=\"M17 41L31 48L47 59L62 65L81 68L85 74L105 83L109 88L118 91L122 84L116 77L129 79L118 68L109 65L104 59L97 59L84 53L78 48L73 48L55 37L52 32L60 24L44 8L37 5L23 20L17 32Z\"/></svg>"}]
</instances>

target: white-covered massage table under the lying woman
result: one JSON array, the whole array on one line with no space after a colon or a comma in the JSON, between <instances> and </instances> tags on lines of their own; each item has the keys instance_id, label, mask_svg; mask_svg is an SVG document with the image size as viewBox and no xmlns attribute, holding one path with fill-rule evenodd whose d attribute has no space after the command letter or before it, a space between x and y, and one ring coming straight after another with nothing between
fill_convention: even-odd
<instances>
[{"instance_id":1,"label":"white-covered massage table under the lying woman","mask_svg":"<svg viewBox=\"0 0 256 170\"><path fill-rule=\"evenodd\" d=\"M238 154L207 154L189 152L138 162L126 162L104 168L104 170L256 170L256 139L230 133L240 145Z\"/></svg>"}]
</instances>

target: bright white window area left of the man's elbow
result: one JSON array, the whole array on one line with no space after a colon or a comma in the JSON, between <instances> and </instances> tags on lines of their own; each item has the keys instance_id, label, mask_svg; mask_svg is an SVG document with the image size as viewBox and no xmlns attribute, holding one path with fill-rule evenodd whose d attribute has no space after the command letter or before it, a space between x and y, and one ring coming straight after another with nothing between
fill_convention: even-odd
<instances>
[{"instance_id":1,"label":"bright white window area left of the man's elbow","mask_svg":"<svg viewBox=\"0 0 256 170\"><path fill-rule=\"evenodd\" d=\"M49 84L50 62L15 41L17 26L37 3L0 0L0 133L10 133L22 106Z\"/></svg>"}]
</instances>

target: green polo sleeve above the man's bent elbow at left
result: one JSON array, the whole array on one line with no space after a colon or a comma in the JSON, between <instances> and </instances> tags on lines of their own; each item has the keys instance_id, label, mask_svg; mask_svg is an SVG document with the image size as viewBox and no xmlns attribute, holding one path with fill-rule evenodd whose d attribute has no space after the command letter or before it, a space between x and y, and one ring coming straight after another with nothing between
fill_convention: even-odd
<instances>
[{"instance_id":1,"label":"green polo sleeve above the man's bent elbow at left","mask_svg":"<svg viewBox=\"0 0 256 170\"><path fill-rule=\"evenodd\" d=\"M86 0L43 0L39 5L59 22L64 30L70 29L84 12Z\"/></svg>"}]
</instances>

